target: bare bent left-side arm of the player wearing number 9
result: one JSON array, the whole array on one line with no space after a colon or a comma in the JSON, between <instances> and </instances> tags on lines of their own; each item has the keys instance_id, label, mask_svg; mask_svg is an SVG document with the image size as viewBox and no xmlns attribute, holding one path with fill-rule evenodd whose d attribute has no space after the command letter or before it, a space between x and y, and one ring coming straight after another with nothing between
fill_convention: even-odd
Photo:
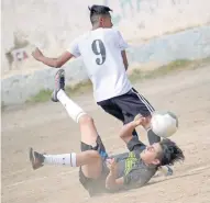
<instances>
[{"instance_id":1,"label":"bare bent left-side arm of the player wearing number 9","mask_svg":"<svg viewBox=\"0 0 210 203\"><path fill-rule=\"evenodd\" d=\"M32 56L33 56L36 60L38 60L38 61L41 61L41 63L43 63L43 64L45 64L45 65L47 65L47 66L54 67L54 68L59 68L59 67L62 67L62 66L63 66L64 64L66 64L70 58L74 57L74 55L70 54L69 52L65 52L65 53L63 53L63 54L62 54L59 57L57 57L57 58L48 58L48 57L44 56L43 53L42 53L38 48L35 48L35 50L32 53Z\"/></svg>"}]
</instances>

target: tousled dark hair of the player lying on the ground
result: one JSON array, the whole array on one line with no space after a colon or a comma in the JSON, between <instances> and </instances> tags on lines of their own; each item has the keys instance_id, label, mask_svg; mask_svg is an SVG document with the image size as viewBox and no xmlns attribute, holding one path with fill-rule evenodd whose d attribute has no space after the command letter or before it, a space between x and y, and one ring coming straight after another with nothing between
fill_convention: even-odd
<instances>
[{"instance_id":1,"label":"tousled dark hair of the player lying on the ground","mask_svg":"<svg viewBox=\"0 0 210 203\"><path fill-rule=\"evenodd\" d=\"M174 165L177 161L185 160L183 150L170 139L163 139L159 143L162 153L158 156L161 163L159 166Z\"/></svg>"}]
</instances>

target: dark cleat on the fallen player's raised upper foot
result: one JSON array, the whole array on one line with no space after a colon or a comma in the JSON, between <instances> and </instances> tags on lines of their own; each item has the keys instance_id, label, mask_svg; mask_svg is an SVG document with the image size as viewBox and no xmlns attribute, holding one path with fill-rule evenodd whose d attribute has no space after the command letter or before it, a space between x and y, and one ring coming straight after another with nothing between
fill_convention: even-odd
<instances>
[{"instance_id":1,"label":"dark cleat on the fallen player's raised upper foot","mask_svg":"<svg viewBox=\"0 0 210 203\"><path fill-rule=\"evenodd\" d=\"M62 90L65 89L65 71L64 71L64 69L59 69L55 75L55 89L52 93L52 101L53 102L58 102L57 92L60 89Z\"/></svg>"}]
</instances>

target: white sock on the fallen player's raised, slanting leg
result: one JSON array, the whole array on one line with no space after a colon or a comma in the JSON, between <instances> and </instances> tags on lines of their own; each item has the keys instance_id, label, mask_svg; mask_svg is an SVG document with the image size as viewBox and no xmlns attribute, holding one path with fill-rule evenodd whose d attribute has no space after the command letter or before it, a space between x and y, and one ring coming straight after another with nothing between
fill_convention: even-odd
<instances>
[{"instance_id":1,"label":"white sock on the fallen player's raised, slanting leg","mask_svg":"<svg viewBox=\"0 0 210 203\"><path fill-rule=\"evenodd\" d=\"M70 100L68 98L68 95L66 95L64 90L59 90L57 92L57 99L59 100L59 102L64 105L64 108L66 109L68 115L76 122L79 122L79 117L81 115L85 115L86 112L84 112L84 110L77 105L73 100Z\"/></svg>"}]
</instances>

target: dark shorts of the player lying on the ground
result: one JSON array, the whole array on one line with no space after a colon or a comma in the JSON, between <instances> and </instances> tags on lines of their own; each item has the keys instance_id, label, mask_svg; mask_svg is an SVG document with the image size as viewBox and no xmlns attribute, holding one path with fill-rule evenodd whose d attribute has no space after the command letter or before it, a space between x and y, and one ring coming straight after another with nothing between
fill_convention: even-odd
<instances>
[{"instance_id":1,"label":"dark shorts of the player lying on the ground","mask_svg":"<svg viewBox=\"0 0 210 203\"><path fill-rule=\"evenodd\" d=\"M80 148L81 148L81 151L97 150L102 158L102 171L101 171L101 176L98 179L87 178L84 174L81 167L79 168L79 181L80 181L80 183L89 192L90 196L106 192L106 178L109 173L109 169L106 166L106 159L108 157L108 154L106 151L106 148L103 146L103 143L102 143L100 136L98 136L98 138L97 138L97 146L96 147L92 147L92 146L87 145L87 144L81 142Z\"/></svg>"}]
</instances>

